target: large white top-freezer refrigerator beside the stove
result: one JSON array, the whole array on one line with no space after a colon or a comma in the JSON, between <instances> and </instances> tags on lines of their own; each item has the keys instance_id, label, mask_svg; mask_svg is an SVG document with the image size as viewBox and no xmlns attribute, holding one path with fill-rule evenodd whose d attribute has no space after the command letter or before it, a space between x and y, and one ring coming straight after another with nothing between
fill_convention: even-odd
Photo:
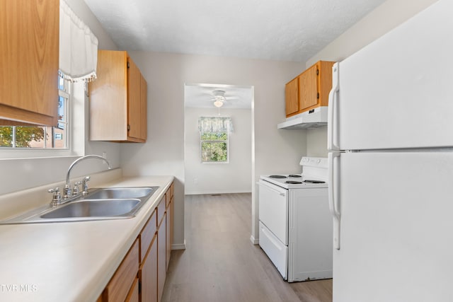
<instances>
[{"instance_id":1,"label":"large white top-freezer refrigerator beside the stove","mask_svg":"<svg viewBox=\"0 0 453 302\"><path fill-rule=\"evenodd\" d=\"M453 1L333 66L333 302L453 301Z\"/></svg>"}]
</instances>

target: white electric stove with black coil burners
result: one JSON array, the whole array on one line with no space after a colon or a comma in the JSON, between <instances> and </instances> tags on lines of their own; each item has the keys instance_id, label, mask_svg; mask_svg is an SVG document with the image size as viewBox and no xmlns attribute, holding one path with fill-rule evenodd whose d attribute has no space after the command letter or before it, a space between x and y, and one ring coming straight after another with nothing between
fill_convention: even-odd
<instances>
[{"instance_id":1,"label":"white electric stove with black coil burners","mask_svg":"<svg viewBox=\"0 0 453 302\"><path fill-rule=\"evenodd\" d=\"M327 158L303 157L301 174L261 175L259 244L283 279L332 277Z\"/></svg>"}]
</instances>

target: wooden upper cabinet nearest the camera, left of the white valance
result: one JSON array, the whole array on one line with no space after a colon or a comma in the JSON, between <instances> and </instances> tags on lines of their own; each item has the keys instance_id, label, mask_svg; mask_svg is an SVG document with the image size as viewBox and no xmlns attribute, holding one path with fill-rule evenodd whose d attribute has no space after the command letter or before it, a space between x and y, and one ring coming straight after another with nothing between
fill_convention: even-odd
<instances>
[{"instance_id":1,"label":"wooden upper cabinet nearest the camera, left of the white valance","mask_svg":"<svg viewBox=\"0 0 453 302\"><path fill-rule=\"evenodd\" d=\"M0 124L57 125L59 0L0 1Z\"/></svg>"}]
</instances>

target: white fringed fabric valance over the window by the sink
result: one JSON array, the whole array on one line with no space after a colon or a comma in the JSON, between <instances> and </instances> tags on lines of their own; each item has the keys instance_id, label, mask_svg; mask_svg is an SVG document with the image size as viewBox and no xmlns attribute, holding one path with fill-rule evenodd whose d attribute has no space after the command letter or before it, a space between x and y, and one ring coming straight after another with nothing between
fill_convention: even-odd
<instances>
[{"instance_id":1,"label":"white fringed fabric valance over the window by the sink","mask_svg":"<svg viewBox=\"0 0 453 302\"><path fill-rule=\"evenodd\" d=\"M98 38L64 0L59 3L59 72L71 81L93 81Z\"/></svg>"}]
</instances>

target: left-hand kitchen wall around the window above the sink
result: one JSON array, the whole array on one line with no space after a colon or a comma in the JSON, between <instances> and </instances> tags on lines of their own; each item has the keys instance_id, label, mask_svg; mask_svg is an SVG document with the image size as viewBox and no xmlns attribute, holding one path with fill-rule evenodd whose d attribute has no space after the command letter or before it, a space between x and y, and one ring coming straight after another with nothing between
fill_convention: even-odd
<instances>
[{"instance_id":1,"label":"left-hand kitchen wall around the window above the sink","mask_svg":"<svg viewBox=\"0 0 453 302\"><path fill-rule=\"evenodd\" d=\"M88 6L81 0L66 0L79 18L86 23L93 33L98 37L99 47L105 49L117 49L115 43L105 33L98 19L91 13ZM79 91L75 98L79 100L80 106L84 106L84 93ZM82 108L83 112L84 108ZM83 118L83 117L81 117ZM80 122L80 120L78 120ZM85 120L85 124L88 121ZM88 129L88 127L86 127ZM82 134L84 129L82 130ZM114 168L120 165L119 144L105 142L89 142L88 135L76 140L78 149L85 150L86 154L96 153L102 155L103 151L108 153L108 159ZM81 146L84 145L84 146ZM80 148L81 147L81 148ZM0 151L1 152L1 151ZM59 182L66 178L69 165L76 159L74 156L64 158L28 158L28 159L0 159L0 194L16 192L30 187L46 185L52 182ZM72 176L81 176L105 170L107 167L101 161L90 161L91 165L81 165L74 168Z\"/></svg>"}]
</instances>

